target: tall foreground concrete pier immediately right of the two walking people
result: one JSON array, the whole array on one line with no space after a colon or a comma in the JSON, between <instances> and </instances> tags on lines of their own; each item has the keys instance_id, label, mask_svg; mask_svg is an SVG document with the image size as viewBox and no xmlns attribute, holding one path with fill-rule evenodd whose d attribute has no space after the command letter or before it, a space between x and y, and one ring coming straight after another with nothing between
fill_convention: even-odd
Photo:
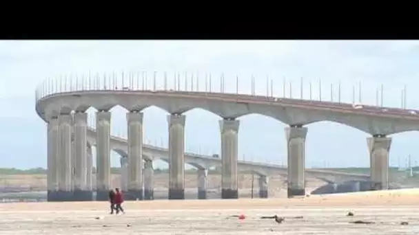
<instances>
[{"instance_id":1,"label":"tall foreground concrete pier immediately right of the two walking people","mask_svg":"<svg viewBox=\"0 0 419 235\"><path fill-rule=\"evenodd\" d=\"M127 201L143 200L143 113L127 113L128 192Z\"/></svg>"}]
</instances>

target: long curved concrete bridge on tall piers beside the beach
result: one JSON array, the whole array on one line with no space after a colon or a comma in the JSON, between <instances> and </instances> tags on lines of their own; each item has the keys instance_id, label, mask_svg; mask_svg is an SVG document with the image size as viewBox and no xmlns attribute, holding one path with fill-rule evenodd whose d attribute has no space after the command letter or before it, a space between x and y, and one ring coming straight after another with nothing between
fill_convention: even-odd
<instances>
[{"instance_id":1,"label":"long curved concrete bridge on tall piers beside the beach","mask_svg":"<svg viewBox=\"0 0 419 235\"><path fill-rule=\"evenodd\" d=\"M51 198L71 197L80 199L90 192L86 169L88 164L87 142L96 144L96 166L98 173L96 187L98 200L106 200L110 186L110 149L127 156L127 192L131 199L150 199L152 186L147 184L147 174L155 157L170 163L169 199L183 199L183 175L185 162L198 168L198 197L205 198L206 169L222 166L222 197L237 198L238 168L252 170L260 175L260 190L267 191L267 176L280 166L238 161L237 137L240 121L238 117L249 113L267 115L288 124L287 135L287 178L288 195L294 197L305 194L305 137L307 124L331 121L358 128L371 134L367 139L371 158L371 188L388 188L388 157L391 137L388 135L403 131L419 130L417 111L389 107L373 107L363 104L341 102L321 102L274 98L272 96L249 96L239 93L214 93L203 91L148 90L122 87L109 82L101 84L101 78L90 87L87 80L70 89L57 90L54 82L46 83L36 92L36 110L48 122L48 188ZM176 87L176 85L175 85ZM110 109L120 105L127 113L128 139L118 139L110 135ZM169 148L162 149L143 145L143 109L155 106L170 113ZM87 111L90 107L96 113L96 138L87 126ZM221 159L199 156L184 151L185 113L200 108L215 113L220 120ZM89 134L88 134L89 133ZM59 141L57 142L57 137ZM145 148L144 148L145 147ZM73 150L73 151L72 151ZM74 153L72 155L72 152ZM59 157L58 157L59 156ZM74 159L73 159L74 158ZM143 169L143 160L145 168ZM72 164L75 164L72 166ZM57 170L59 168L60 170ZM72 168L74 174L72 175ZM309 172L309 171L308 171ZM314 170L311 170L314 173ZM320 174L320 172L316 172ZM323 172L327 174L327 172ZM329 172L331 174L331 172ZM334 173L336 174L336 173ZM143 177L144 176L144 177ZM365 176L356 176L365 177ZM72 184L74 179L76 184ZM73 192L74 191L74 192ZM144 191L144 192L143 192ZM55 196L53 196L55 194ZM78 195L78 196L76 196ZM266 195L267 196L267 195Z\"/></svg>"}]
</instances>

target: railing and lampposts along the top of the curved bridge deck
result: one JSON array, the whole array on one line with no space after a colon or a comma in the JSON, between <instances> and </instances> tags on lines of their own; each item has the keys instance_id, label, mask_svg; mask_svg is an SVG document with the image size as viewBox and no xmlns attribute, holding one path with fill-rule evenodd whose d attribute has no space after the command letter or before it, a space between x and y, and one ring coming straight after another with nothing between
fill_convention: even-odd
<instances>
[{"instance_id":1,"label":"railing and lampposts along the top of the curved bridge deck","mask_svg":"<svg viewBox=\"0 0 419 235\"><path fill-rule=\"evenodd\" d=\"M205 80L203 80L203 78ZM241 82L245 82L241 80ZM167 73L167 72L152 72L145 71L141 72L112 72L112 73L85 73L85 74L66 74L61 76L53 76L43 80L35 91L35 100L38 102L40 99L53 95L55 93L67 93L73 91L187 91L191 92L207 93L207 94L218 94L223 95L245 95L247 99L254 97L257 100L267 100L269 102L282 102L302 105L320 105L328 108L338 109L350 109L354 110L354 102L341 102L340 98L334 102L333 96L331 95L330 100L318 99L314 100L309 96L309 99L304 98L303 92L299 98L293 98L292 93L289 92L289 97L285 97L285 83L282 92L282 97L274 96L274 85L273 80L266 80L266 91L260 91L255 89L255 79L252 76L252 86L250 92L246 92L246 88L239 84L238 77L236 76L236 87L229 86L226 89L224 82L224 76L221 74L219 78L212 77L211 74L205 74L205 76L194 73ZM291 84L291 83L290 83ZM303 91L303 84L302 91ZM260 87L260 86L258 86ZM311 86L310 86L311 87ZM340 92L339 92L340 93ZM310 88L311 94L311 88ZM340 96L340 95L339 95ZM231 96L229 98L232 98ZM239 96L235 96L239 100ZM419 115L419 111L406 110L406 105L402 105L402 108L388 108L374 105L362 104L362 111L370 113L392 113L405 115Z\"/></svg>"}]
</instances>

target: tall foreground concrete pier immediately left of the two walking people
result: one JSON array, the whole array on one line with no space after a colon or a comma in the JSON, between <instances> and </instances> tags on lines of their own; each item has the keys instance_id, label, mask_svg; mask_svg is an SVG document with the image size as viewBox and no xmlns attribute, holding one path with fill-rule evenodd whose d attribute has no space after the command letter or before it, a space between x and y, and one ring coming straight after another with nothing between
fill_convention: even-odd
<instances>
[{"instance_id":1,"label":"tall foreground concrete pier immediately left of the two walking people","mask_svg":"<svg viewBox=\"0 0 419 235\"><path fill-rule=\"evenodd\" d=\"M96 201L108 201L110 190L110 117L108 111L96 113Z\"/></svg>"}]
</instances>

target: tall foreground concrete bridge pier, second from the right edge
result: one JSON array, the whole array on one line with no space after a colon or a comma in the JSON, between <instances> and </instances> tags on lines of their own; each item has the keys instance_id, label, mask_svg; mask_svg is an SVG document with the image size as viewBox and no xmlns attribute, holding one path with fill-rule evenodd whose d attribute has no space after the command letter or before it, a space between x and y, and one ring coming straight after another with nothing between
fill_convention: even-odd
<instances>
[{"instance_id":1,"label":"tall foreground concrete bridge pier, second from the right edge","mask_svg":"<svg viewBox=\"0 0 419 235\"><path fill-rule=\"evenodd\" d=\"M307 127L285 128L288 152L288 197L305 195L305 137Z\"/></svg>"}]
</instances>

